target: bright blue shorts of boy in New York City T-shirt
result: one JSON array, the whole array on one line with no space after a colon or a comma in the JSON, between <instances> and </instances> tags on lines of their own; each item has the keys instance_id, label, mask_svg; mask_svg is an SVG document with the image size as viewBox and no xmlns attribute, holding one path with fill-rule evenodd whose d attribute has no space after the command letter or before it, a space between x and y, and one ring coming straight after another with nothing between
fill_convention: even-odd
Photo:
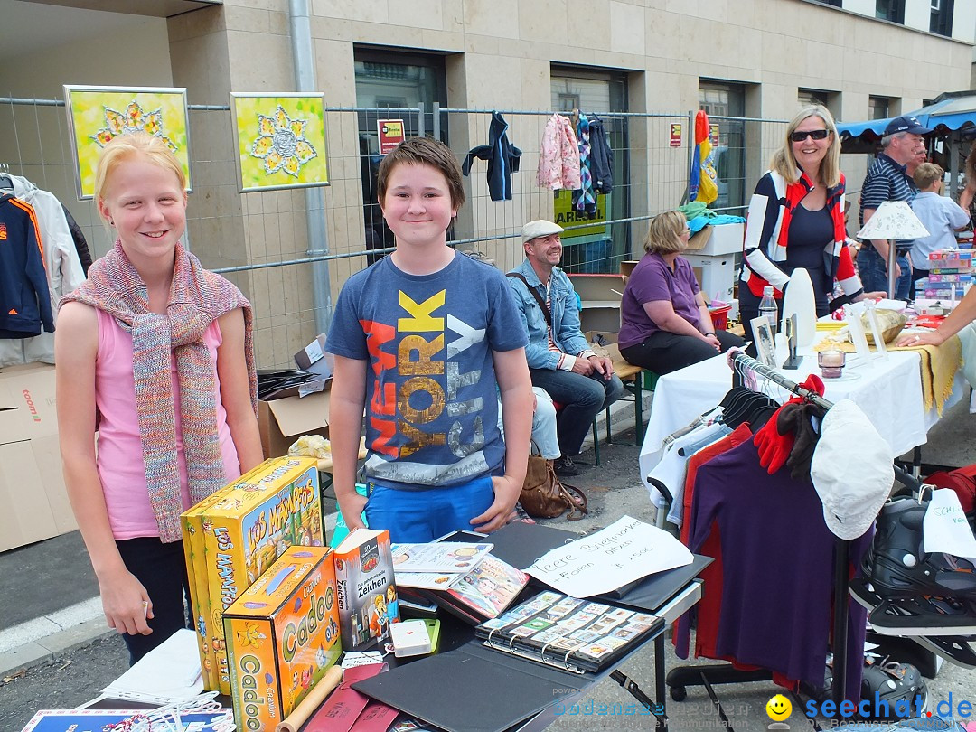
<instances>
[{"instance_id":1,"label":"bright blue shorts of boy in New York City T-shirt","mask_svg":"<svg viewBox=\"0 0 976 732\"><path fill-rule=\"evenodd\" d=\"M395 544L424 544L452 531L470 531L471 519L495 501L491 475L461 485L406 491L370 481L366 520L388 529Z\"/></svg>"}]
</instances>

